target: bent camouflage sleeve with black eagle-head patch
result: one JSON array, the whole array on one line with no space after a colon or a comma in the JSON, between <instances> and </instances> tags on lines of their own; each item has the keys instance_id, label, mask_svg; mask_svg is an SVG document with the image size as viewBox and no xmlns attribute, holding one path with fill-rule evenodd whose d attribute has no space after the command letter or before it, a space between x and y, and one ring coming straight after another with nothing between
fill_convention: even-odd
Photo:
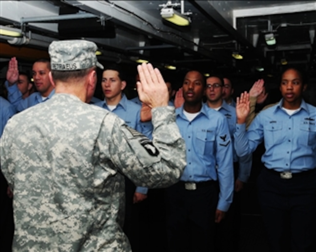
<instances>
[{"instance_id":1,"label":"bent camouflage sleeve with black eagle-head patch","mask_svg":"<svg viewBox=\"0 0 316 252\"><path fill-rule=\"evenodd\" d=\"M103 120L97 145L100 153L108 153L114 166L136 186L167 187L176 183L184 170L185 142L173 107L152 109L152 123L151 141L109 113ZM111 133L106 135L109 128Z\"/></svg>"}]
</instances>

